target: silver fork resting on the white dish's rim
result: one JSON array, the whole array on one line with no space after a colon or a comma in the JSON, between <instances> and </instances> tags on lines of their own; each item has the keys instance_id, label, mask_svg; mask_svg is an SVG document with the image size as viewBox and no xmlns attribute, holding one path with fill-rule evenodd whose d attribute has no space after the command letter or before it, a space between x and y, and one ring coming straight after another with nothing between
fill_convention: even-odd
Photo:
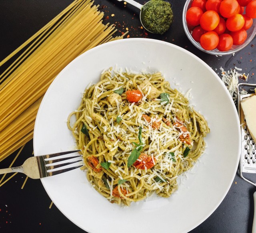
<instances>
[{"instance_id":1,"label":"silver fork resting on the white dish's rim","mask_svg":"<svg viewBox=\"0 0 256 233\"><path fill-rule=\"evenodd\" d=\"M81 157L82 155L69 156L66 158L58 158L58 156L61 156L64 154L71 154L71 153L79 152L79 151L81 151L81 150L72 150L72 151L60 152L60 153L56 153L56 154L46 154L46 155L41 155L41 156L30 157L24 162L24 164L22 164L22 166L14 167L14 168L0 169L0 174L10 173L10 172L22 172L32 179L39 179L39 178L44 178L44 177L48 177L48 176L54 176L54 175L57 175L57 174L60 174L63 172L68 172L73 169L80 168L83 165L64 168L64 169L57 170L57 171L48 172L48 170L51 170L54 168L60 168L62 166L66 166L69 164L74 164L76 162L82 161L82 159L81 159L81 160L76 160L76 161L72 161L72 162L66 162L66 163L54 165L56 162L62 162L62 161L68 160L68 159Z\"/></svg>"}]
</instances>

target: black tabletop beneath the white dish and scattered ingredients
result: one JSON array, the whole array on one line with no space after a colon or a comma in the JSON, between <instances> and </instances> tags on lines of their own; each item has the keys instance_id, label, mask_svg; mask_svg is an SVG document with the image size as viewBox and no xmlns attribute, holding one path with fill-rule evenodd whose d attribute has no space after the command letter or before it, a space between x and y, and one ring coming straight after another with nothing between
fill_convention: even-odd
<instances>
[{"instance_id":1,"label":"black tabletop beneath the white dish and scattered ingredients","mask_svg":"<svg viewBox=\"0 0 256 233\"><path fill-rule=\"evenodd\" d=\"M1 0L0 1L0 60L30 38L47 24L72 0ZM138 0L141 4L144 0ZM249 73L248 83L256 83L256 38L234 56L216 57L196 49L185 35L182 26L182 10L185 0L171 1L174 22L164 35L147 33L141 28L139 11L133 6L116 0L95 0L104 12L104 23L116 24L118 35L129 30L130 38L153 38L168 41L187 49L205 61L216 73L224 70L242 68ZM112 16L114 14L114 16ZM241 80L240 80L241 82ZM22 150L14 166L19 166L32 156L33 142L30 141ZM0 163L0 168L7 168L17 152ZM227 164L228 166L228 164ZM8 174L6 178L10 177ZM2 176L0 176L0 179ZM4 180L6 180L6 178ZM40 180L28 179L21 189L26 176L17 174L0 187L0 232L84 232L69 221L53 204L46 194ZM254 176L251 176L253 179ZM256 180L256 179L255 179ZM221 181L220 181L221 182ZM247 233L252 231L256 188L242 180L237 172L232 186L220 204L206 221L190 231L191 233ZM196 213L195 213L196 214ZM135 231L136 232L136 231ZM172 232L171 229L168 232Z\"/></svg>"}]
</instances>

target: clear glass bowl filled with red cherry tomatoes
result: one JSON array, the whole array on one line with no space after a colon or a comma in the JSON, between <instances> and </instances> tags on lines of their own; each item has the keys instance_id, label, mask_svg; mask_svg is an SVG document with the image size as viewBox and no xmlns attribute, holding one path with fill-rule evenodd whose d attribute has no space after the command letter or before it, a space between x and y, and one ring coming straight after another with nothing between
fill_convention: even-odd
<instances>
[{"instance_id":1,"label":"clear glass bowl filled with red cherry tomatoes","mask_svg":"<svg viewBox=\"0 0 256 233\"><path fill-rule=\"evenodd\" d=\"M256 35L256 0L187 0L182 22L198 49L212 55L236 53Z\"/></svg>"}]
</instances>

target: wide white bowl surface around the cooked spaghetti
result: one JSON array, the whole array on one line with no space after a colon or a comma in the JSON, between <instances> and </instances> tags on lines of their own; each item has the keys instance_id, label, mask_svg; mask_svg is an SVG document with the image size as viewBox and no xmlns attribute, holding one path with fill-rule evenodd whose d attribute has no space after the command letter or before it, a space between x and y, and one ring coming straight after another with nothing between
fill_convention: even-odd
<instances>
[{"instance_id":1,"label":"wide white bowl surface around the cooked spaghetti","mask_svg":"<svg viewBox=\"0 0 256 233\"><path fill-rule=\"evenodd\" d=\"M211 132L207 148L178 191L130 207L112 204L94 190L79 169L42 179L68 219L90 233L187 232L202 223L227 194L238 166L239 120L226 87L212 69L192 53L153 39L122 39L87 51L56 77L40 105L34 129L34 154L70 150L74 139L66 126L80 104L81 92L110 66L161 71L173 88L191 90L192 105ZM176 85L175 85L176 83ZM55 223L56 224L56 223Z\"/></svg>"}]
</instances>

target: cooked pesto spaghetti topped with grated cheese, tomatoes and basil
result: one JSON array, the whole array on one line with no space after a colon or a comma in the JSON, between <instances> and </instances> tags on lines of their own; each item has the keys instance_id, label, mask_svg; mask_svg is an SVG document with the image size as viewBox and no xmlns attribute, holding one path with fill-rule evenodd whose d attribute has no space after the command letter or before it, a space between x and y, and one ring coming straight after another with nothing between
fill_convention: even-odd
<instances>
[{"instance_id":1,"label":"cooked pesto spaghetti topped with grated cheese, tomatoes and basil","mask_svg":"<svg viewBox=\"0 0 256 233\"><path fill-rule=\"evenodd\" d=\"M68 128L92 186L112 203L126 205L153 192L169 197L178 175L204 151L210 132L204 117L160 72L112 68L85 89Z\"/></svg>"}]
</instances>

